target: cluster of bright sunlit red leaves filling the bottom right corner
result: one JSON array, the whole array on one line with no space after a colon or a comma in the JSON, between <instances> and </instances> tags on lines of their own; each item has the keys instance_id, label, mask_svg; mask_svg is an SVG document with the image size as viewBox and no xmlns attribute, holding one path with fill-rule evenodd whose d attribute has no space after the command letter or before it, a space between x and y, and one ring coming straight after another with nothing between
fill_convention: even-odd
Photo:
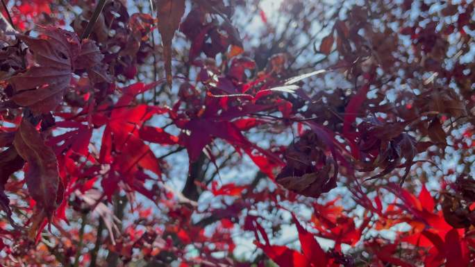
<instances>
[{"instance_id":1,"label":"cluster of bright sunlit red leaves filling the bottom right corner","mask_svg":"<svg viewBox=\"0 0 475 267\"><path fill-rule=\"evenodd\" d=\"M344 255L341 244L355 247L360 241L364 241L362 246L367 252L374 253L368 262L371 266L392 264L412 267L417 266L417 263L423 263L424 266L471 266L475 248L473 230L460 229L447 223L445 210L435 211L437 200L425 186L419 196L412 195L397 184L389 184L385 190L397 197L385 209L379 196L370 200L362 195L356 200L367 211L378 215L374 220L365 213L365 219L359 227L356 227L354 218L346 215L344 207L335 205L338 199L325 205L314 205L311 223L313 229L317 230L315 234L305 230L292 214L299 233L301 252L286 246L271 245L256 216L247 216L244 229L254 232L256 246L278 266L357 266L351 256ZM363 239L364 232L390 229L400 223L407 223L409 229L397 231L392 241L383 238ZM322 250L316 236L334 241L333 249Z\"/></svg>"}]
</instances>

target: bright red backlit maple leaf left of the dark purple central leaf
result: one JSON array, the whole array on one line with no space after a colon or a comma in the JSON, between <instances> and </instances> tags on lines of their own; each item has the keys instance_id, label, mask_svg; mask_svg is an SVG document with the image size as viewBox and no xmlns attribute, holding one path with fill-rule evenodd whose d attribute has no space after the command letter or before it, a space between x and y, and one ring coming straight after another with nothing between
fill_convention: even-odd
<instances>
[{"instance_id":1,"label":"bright red backlit maple leaf left of the dark purple central leaf","mask_svg":"<svg viewBox=\"0 0 475 267\"><path fill-rule=\"evenodd\" d=\"M119 180L124 180L131 187L140 189L141 193L153 199L143 185L135 179L135 175L140 173L140 168L152 171L159 176L162 174L160 162L144 141L158 142L163 140L163 143L173 144L176 137L160 132L161 137L167 138L165 140L158 135L154 136L154 134L159 133L158 128L144 126L144 123L151 119L154 114L168 112L167 108L151 105L132 106L131 103L135 96L146 92L159 83L148 85L135 83L122 89L124 94L119 98L115 104L117 107L111 112L110 118L106 121L99 162L110 164L113 170L101 181L109 199L118 189L117 183ZM120 173L121 176L118 177L113 174L114 171Z\"/></svg>"}]
</instances>

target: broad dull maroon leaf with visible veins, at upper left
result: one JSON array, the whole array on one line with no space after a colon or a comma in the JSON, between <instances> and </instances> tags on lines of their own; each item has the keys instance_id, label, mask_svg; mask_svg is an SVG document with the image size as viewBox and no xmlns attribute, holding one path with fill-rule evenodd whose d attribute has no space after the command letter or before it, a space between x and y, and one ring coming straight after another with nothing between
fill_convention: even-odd
<instances>
[{"instance_id":1,"label":"broad dull maroon leaf with visible veins, at upper left","mask_svg":"<svg viewBox=\"0 0 475 267\"><path fill-rule=\"evenodd\" d=\"M51 26L38 27L38 33L39 37L17 35L28 45L34 62L8 79L15 91L12 100L35 115L55 110L74 70L97 67L103 58L94 41L81 43L75 33Z\"/></svg>"}]
</instances>

